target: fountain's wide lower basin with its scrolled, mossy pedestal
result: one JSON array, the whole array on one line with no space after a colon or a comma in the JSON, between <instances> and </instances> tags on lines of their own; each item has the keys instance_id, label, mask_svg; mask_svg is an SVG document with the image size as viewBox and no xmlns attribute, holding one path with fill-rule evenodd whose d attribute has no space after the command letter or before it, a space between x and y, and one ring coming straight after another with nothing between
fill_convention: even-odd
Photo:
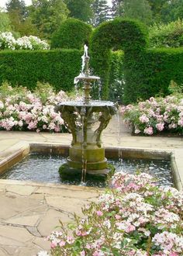
<instances>
[{"instance_id":1,"label":"fountain's wide lower basin with its scrolled, mossy pedestal","mask_svg":"<svg viewBox=\"0 0 183 256\"><path fill-rule=\"evenodd\" d=\"M67 157L68 168L105 173L107 159L101 134L116 113L116 104L105 101L62 102L57 106L57 111L62 113L73 137Z\"/></svg>"}]
</instances>

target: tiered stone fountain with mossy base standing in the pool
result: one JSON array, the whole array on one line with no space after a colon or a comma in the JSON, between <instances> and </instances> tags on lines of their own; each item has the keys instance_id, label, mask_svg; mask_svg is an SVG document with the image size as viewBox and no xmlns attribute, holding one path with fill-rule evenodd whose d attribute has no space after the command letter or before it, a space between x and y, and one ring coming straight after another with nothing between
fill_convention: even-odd
<instances>
[{"instance_id":1,"label":"tiered stone fountain with mossy base standing in the pool","mask_svg":"<svg viewBox=\"0 0 183 256\"><path fill-rule=\"evenodd\" d=\"M101 134L117 108L113 102L91 100L91 83L100 78L90 74L86 45L81 58L81 74L74 78L74 83L83 83L83 100L60 102L56 110L61 112L67 129L72 133L67 164L60 167L60 176L81 172L81 182L85 182L86 175L106 176L109 172Z\"/></svg>"}]
</instances>

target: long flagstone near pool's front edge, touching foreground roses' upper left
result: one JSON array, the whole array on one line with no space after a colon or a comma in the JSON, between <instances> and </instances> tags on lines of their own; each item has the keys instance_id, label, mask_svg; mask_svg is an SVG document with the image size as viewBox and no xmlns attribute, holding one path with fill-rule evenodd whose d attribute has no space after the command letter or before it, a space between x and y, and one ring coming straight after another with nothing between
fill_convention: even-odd
<instances>
[{"instance_id":1,"label":"long flagstone near pool's front edge, touching foreground roses' upper left","mask_svg":"<svg viewBox=\"0 0 183 256\"><path fill-rule=\"evenodd\" d=\"M84 199L67 199L62 196L54 195L46 196L46 201L49 206L61 209L67 213L77 213L78 215L81 215L81 207L88 203Z\"/></svg>"}]
</instances>

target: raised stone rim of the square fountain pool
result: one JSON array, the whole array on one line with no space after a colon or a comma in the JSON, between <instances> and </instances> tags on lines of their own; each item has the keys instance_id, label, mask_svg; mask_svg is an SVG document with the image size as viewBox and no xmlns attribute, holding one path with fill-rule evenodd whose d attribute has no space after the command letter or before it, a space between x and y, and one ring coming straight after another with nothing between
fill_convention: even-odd
<instances>
[{"instance_id":1,"label":"raised stone rim of the square fountain pool","mask_svg":"<svg viewBox=\"0 0 183 256\"><path fill-rule=\"evenodd\" d=\"M67 155L69 145L61 144L51 144L51 143L29 143L29 142L19 142L14 144L12 147L9 147L7 150L4 150L0 153L0 174L4 173L8 168L12 167L13 164L16 164L20 161L26 154L29 154L30 151L36 152L45 152L49 147L50 153L55 150L57 153L64 156ZM38 150L39 149L39 150ZM120 157L130 157L132 154L135 154L136 158L143 159L170 159L171 160L171 169L174 178L174 185L179 191L183 191L183 160L182 160L183 150L181 149L147 149L147 148L133 148L133 147L105 147L106 157L115 156L119 154ZM67 189L76 189L78 186L73 185L59 185L52 183L40 183L40 182L25 182L25 181L13 181L13 180L3 180L0 179L0 184L14 184L14 185L39 185L47 187L60 187ZM86 187L79 187L80 189L86 189ZM88 188L88 190L93 191L95 188ZM97 189L98 190L98 189Z\"/></svg>"}]
</instances>

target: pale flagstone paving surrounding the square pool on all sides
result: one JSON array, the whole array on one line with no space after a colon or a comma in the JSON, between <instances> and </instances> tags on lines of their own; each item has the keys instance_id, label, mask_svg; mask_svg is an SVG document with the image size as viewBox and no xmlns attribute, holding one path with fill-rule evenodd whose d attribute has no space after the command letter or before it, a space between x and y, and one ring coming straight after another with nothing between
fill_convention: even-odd
<instances>
[{"instance_id":1,"label":"pale flagstone paving surrounding the square pool on all sides","mask_svg":"<svg viewBox=\"0 0 183 256\"><path fill-rule=\"evenodd\" d=\"M120 128L120 129L119 129ZM180 188L183 182L182 137L138 137L114 117L103 132L105 147L139 148L174 152L179 171ZM19 147L28 143L71 143L71 134L0 132L0 161L6 161ZM102 189L37 182L0 180L0 256L33 256L49 250L45 237L61 220L67 224L73 213L81 215L81 207L95 201Z\"/></svg>"}]
</instances>

